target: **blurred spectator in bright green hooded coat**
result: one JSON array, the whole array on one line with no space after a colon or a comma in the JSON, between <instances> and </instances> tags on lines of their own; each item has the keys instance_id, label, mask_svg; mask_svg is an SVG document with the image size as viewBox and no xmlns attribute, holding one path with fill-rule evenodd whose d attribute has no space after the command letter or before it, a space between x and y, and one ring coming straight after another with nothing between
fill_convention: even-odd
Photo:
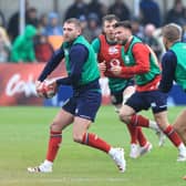
<instances>
[{"instance_id":1,"label":"blurred spectator in bright green hooded coat","mask_svg":"<svg viewBox=\"0 0 186 186\"><path fill-rule=\"evenodd\" d=\"M37 61L33 38L37 34L37 29L28 24L24 33L16 38L12 44L11 61L12 62L33 62Z\"/></svg>"}]
</instances>

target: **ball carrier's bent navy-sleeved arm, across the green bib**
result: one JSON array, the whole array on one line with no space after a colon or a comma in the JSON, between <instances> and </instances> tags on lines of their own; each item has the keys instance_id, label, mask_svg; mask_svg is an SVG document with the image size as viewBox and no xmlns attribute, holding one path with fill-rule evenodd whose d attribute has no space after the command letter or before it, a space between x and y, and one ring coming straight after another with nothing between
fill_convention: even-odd
<instances>
[{"instance_id":1,"label":"ball carrier's bent navy-sleeved arm, across the green bib","mask_svg":"<svg viewBox=\"0 0 186 186\"><path fill-rule=\"evenodd\" d=\"M70 51L71 73L66 78L56 80L56 84L78 86L82 75L83 65L86 62L87 56L89 51L84 45L73 45Z\"/></svg>"}]
</instances>

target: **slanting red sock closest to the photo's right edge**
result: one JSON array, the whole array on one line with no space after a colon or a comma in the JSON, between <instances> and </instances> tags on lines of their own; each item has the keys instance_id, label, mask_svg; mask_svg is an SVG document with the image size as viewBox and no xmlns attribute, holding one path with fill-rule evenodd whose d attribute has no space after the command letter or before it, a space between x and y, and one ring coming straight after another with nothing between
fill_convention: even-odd
<instances>
[{"instance_id":1,"label":"slanting red sock closest to the photo's right edge","mask_svg":"<svg viewBox=\"0 0 186 186\"><path fill-rule=\"evenodd\" d=\"M182 144L182 140L178 134L174 131L172 125L168 125L164 131L166 136L173 142L173 144L178 147Z\"/></svg>"}]
</instances>

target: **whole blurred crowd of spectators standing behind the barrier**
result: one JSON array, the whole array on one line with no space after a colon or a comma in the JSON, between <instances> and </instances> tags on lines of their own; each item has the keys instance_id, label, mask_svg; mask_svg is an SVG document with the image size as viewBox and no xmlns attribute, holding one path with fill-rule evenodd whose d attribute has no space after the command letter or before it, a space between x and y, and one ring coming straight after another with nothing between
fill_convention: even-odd
<instances>
[{"instance_id":1,"label":"whole blurred crowd of spectators standing behind the barrier","mask_svg":"<svg viewBox=\"0 0 186 186\"><path fill-rule=\"evenodd\" d=\"M102 17L116 14L121 20L131 20L134 35L140 37L161 59L161 27L175 22L183 27L183 41L186 42L186 7L182 0L174 0L174 6L163 17L159 4L154 0L140 1L140 17L135 18L124 0L114 0L105 6L99 0L74 0L66 7L64 18L56 12L39 17L35 7L25 3L25 30L19 35L19 10L9 20L0 10L0 62L46 62L63 40L62 22L68 18L80 19L84 37L91 42L101 32Z\"/></svg>"}]
</instances>

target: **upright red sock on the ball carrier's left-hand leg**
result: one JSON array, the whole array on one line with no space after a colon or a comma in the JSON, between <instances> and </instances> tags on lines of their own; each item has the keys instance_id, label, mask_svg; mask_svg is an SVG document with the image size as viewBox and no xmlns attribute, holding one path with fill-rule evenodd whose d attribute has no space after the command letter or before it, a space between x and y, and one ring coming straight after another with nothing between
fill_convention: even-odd
<instances>
[{"instance_id":1,"label":"upright red sock on the ball carrier's left-hand leg","mask_svg":"<svg viewBox=\"0 0 186 186\"><path fill-rule=\"evenodd\" d=\"M62 141L61 132L50 132L50 140L46 153L46 159L53 162L55 159L56 153L59 151Z\"/></svg>"}]
</instances>

